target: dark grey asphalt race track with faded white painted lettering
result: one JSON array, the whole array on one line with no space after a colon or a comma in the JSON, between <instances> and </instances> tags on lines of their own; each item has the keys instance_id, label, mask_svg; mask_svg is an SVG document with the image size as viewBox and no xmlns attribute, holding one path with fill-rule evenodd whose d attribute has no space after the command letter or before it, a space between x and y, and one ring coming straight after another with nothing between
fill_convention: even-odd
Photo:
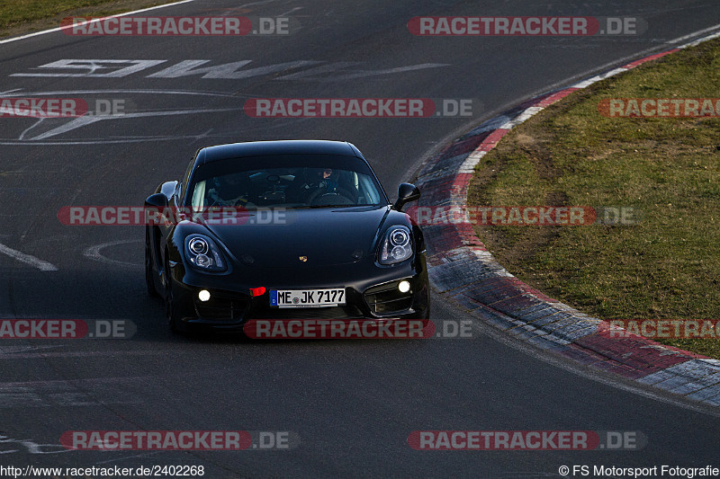
<instances>
[{"instance_id":1,"label":"dark grey asphalt race track with faded white painted lettering","mask_svg":"<svg viewBox=\"0 0 720 479\"><path fill-rule=\"evenodd\" d=\"M53 32L0 44L3 95L116 100L125 113L0 119L0 318L137 326L125 340L0 342L0 466L501 478L559 475L573 465L720 466L716 411L562 367L481 324L471 339L428 341L173 335L164 306L145 292L143 228L65 226L57 216L71 205L142 205L157 184L181 177L197 148L257 139L350 141L394 198L424 158L492 112L668 49L720 23L720 3L195 1L144 14L288 16L301 29L184 38ZM648 28L617 37L417 37L407 23L419 15L636 16ZM227 67L234 62L242 63ZM255 97L472 99L473 115L258 119L243 111ZM432 317L464 319L437 299ZM59 446L67 430L290 431L298 444L73 451ZM647 445L419 451L408 444L414 430L641 431Z\"/></svg>"}]
</instances>

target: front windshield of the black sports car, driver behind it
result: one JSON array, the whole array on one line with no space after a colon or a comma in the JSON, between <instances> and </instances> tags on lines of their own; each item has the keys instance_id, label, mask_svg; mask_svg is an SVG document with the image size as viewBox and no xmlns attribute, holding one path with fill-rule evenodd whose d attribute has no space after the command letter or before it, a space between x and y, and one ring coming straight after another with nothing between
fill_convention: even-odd
<instances>
[{"instance_id":1,"label":"front windshield of the black sports car, driver behind it","mask_svg":"<svg viewBox=\"0 0 720 479\"><path fill-rule=\"evenodd\" d=\"M387 203L365 162L352 156L274 155L213 161L197 168L190 205L342 208Z\"/></svg>"}]
</instances>

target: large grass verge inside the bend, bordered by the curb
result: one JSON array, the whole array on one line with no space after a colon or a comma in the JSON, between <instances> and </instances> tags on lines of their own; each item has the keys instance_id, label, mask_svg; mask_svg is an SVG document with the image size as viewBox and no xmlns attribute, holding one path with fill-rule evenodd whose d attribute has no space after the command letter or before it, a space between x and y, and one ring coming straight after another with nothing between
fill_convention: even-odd
<instances>
[{"instance_id":1,"label":"large grass verge inside the bend, bordered by the curb","mask_svg":"<svg viewBox=\"0 0 720 479\"><path fill-rule=\"evenodd\" d=\"M475 226L508 271L602 319L720 318L720 119L606 118L608 98L720 96L720 41L572 93L478 164L468 203L642 210L635 226ZM656 340L720 359L720 338Z\"/></svg>"}]
</instances>

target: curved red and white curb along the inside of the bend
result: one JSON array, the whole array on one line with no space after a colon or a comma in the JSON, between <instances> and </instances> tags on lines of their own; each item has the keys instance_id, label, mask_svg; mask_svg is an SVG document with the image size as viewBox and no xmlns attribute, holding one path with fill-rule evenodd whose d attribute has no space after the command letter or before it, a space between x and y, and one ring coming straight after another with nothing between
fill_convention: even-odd
<instances>
[{"instance_id":1,"label":"curved red and white curb along the inside of the bend","mask_svg":"<svg viewBox=\"0 0 720 479\"><path fill-rule=\"evenodd\" d=\"M466 208L467 187L483 155L510 129L568 94L647 61L720 37L713 33L635 60L560 91L542 94L485 121L423 166L420 206ZM437 291L516 338L594 368L614 372L689 399L720 406L720 361L644 338L608 338L608 323L529 287L487 251L469 222L423 226L428 272Z\"/></svg>"}]
</instances>

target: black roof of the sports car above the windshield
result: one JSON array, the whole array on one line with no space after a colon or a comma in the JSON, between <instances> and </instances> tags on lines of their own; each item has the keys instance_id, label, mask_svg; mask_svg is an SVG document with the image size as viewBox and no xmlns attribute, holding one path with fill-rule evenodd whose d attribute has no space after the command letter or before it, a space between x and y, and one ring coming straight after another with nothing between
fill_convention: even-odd
<instances>
[{"instance_id":1,"label":"black roof of the sports car above the windshield","mask_svg":"<svg viewBox=\"0 0 720 479\"><path fill-rule=\"evenodd\" d=\"M296 139L206 146L200 150L198 160L200 164L205 164L229 158L262 155L347 155L363 158L357 148L347 141Z\"/></svg>"}]
</instances>

